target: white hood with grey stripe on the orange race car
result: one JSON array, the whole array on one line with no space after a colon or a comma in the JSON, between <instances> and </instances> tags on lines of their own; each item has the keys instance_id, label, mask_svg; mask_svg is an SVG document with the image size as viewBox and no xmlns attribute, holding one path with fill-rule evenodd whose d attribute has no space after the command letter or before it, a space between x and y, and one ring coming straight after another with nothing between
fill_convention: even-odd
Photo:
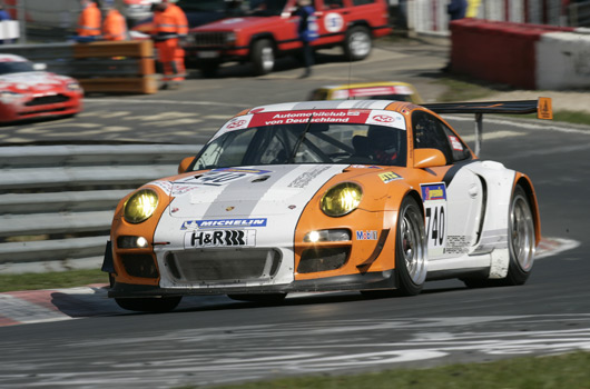
<instances>
[{"instance_id":1,"label":"white hood with grey stripe on the orange race car","mask_svg":"<svg viewBox=\"0 0 590 389\"><path fill-rule=\"evenodd\" d=\"M247 219L302 212L346 166L289 164L215 169L171 182L173 218Z\"/></svg>"}]
</instances>

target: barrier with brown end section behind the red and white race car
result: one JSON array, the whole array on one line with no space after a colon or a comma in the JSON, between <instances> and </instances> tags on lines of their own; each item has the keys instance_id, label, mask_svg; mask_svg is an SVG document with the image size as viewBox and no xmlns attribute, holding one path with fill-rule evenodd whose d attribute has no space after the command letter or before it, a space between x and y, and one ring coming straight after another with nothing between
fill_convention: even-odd
<instances>
[{"instance_id":1,"label":"barrier with brown end section behind the red and white race car","mask_svg":"<svg viewBox=\"0 0 590 389\"><path fill-rule=\"evenodd\" d=\"M9 44L1 46L0 53L42 62L48 71L76 78L87 93L156 93L158 90L150 40Z\"/></svg>"}]
</instances>

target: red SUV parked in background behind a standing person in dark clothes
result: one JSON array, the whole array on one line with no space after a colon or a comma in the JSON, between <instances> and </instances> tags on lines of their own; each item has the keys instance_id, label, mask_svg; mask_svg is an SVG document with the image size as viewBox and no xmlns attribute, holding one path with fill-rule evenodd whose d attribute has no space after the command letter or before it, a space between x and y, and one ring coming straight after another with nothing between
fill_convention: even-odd
<instances>
[{"instance_id":1,"label":"red SUV parked in background behind a standing person in dark clothes","mask_svg":"<svg viewBox=\"0 0 590 389\"><path fill-rule=\"evenodd\" d=\"M223 62L252 62L266 74L275 59L302 48L297 39L296 0L232 0L227 18L191 29L185 49L206 77ZM232 7L234 6L234 7ZM314 0L319 38L314 48L342 46L346 58L362 60L372 39L391 32L386 0Z\"/></svg>"}]
</instances>

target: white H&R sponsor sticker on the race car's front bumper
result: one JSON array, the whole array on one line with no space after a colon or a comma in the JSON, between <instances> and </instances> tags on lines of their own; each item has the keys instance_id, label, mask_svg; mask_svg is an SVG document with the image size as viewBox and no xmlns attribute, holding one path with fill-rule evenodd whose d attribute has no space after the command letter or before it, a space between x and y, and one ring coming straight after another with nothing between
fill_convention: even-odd
<instances>
[{"instance_id":1,"label":"white H&R sponsor sticker on the race car's front bumper","mask_svg":"<svg viewBox=\"0 0 590 389\"><path fill-rule=\"evenodd\" d=\"M256 230L214 230L185 233L185 248L254 246L256 246Z\"/></svg>"}]
</instances>

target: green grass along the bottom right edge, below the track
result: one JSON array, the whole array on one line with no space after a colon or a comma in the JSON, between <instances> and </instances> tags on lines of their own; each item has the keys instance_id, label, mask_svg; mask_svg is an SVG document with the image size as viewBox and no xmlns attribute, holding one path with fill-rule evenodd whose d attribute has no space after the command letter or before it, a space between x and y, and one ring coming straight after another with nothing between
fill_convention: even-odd
<instances>
[{"instance_id":1,"label":"green grass along the bottom right edge, below the track","mask_svg":"<svg viewBox=\"0 0 590 389\"><path fill-rule=\"evenodd\" d=\"M527 357L431 369L395 369L356 376L283 378L216 389L588 389L590 352ZM177 389L195 389L184 386Z\"/></svg>"}]
</instances>

